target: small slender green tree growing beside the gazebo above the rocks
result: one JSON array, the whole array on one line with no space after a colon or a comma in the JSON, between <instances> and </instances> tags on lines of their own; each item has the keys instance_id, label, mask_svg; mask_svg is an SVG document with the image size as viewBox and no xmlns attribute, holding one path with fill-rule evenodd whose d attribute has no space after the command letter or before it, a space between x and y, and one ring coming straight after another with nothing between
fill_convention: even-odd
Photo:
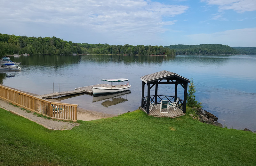
<instances>
[{"instance_id":1,"label":"small slender green tree growing beside the gazebo above the rocks","mask_svg":"<svg viewBox=\"0 0 256 166\"><path fill-rule=\"evenodd\" d=\"M196 92L196 87L194 85L194 80L193 78L191 78L190 80L190 85L188 86L188 94L187 94L187 105L189 107L202 107L201 106L201 102L197 102L196 101L196 96L195 96L195 92Z\"/></svg>"}]
</instances>

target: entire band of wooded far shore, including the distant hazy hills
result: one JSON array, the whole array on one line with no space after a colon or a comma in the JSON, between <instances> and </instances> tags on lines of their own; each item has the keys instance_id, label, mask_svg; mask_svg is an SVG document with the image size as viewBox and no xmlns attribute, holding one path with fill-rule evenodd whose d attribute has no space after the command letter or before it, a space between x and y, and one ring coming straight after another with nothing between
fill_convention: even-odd
<instances>
[{"instance_id":1,"label":"entire band of wooded far shore, including the distant hazy hills","mask_svg":"<svg viewBox=\"0 0 256 166\"><path fill-rule=\"evenodd\" d=\"M8 54L116 54L116 55L218 55L218 54L256 54L256 47L229 47L222 44L200 45L109 45L73 43L53 37L27 37L0 33L0 56Z\"/></svg>"}]
</instances>

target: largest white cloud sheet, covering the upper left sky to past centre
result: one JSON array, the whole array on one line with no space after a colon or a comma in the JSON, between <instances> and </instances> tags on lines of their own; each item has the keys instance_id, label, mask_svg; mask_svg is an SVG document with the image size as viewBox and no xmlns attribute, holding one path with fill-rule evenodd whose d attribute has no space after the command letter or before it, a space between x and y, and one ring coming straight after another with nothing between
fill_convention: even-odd
<instances>
[{"instance_id":1,"label":"largest white cloud sheet, covering the upper left sky to past centre","mask_svg":"<svg viewBox=\"0 0 256 166\"><path fill-rule=\"evenodd\" d=\"M175 23L163 17L172 18L188 9L146 0L4 0L2 4L2 22L69 24L102 33L163 33L163 26Z\"/></svg>"}]
</instances>

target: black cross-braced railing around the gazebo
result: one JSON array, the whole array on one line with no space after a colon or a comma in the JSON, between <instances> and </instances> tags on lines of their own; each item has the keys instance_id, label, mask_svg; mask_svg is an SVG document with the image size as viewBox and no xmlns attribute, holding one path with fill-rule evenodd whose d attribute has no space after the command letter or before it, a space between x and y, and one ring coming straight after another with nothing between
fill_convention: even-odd
<instances>
[{"instance_id":1,"label":"black cross-braced railing around the gazebo","mask_svg":"<svg viewBox=\"0 0 256 166\"><path fill-rule=\"evenodd\" d=\"M156 95L151 95L150 96L150 101L155 102ZM169 102L174 102L175 99L177 100L178 97L175 98L175 96L166 96L166 95L157 95L157 102L156 104L160 104L162 100L168 100ZM174 99L174 100L173 100ZM177 107L181 110L183 110L183 103L184 101L179 98L179 101L177 103ZM147 109L147 100L145 97L142 97L142 108L145 110Z\"/></svg>"}]
</instances>

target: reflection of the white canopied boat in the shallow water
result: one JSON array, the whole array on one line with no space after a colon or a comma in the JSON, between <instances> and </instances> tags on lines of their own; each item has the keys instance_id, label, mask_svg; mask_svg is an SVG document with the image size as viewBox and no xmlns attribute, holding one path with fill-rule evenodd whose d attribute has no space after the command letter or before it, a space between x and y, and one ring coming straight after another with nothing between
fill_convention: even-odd
<instances>
[{"instance_id":1,"label":"reflection of the white canopied boat in the shallow water","mask_svg":"<svg viewBox=\"0 0 256 166\"><path fill-rule=\"evenodd\" d=\"M125 91L125 92L120 92L120 93L115 93L115 94L94 94L92 97L92 102L99 102L103 101L101 103L102 106L104 107L109 107L111 105L116 105L121 102L126 102L128 101L127 95L130 94L131 91Z\"/></svg>"}]
</instances>

